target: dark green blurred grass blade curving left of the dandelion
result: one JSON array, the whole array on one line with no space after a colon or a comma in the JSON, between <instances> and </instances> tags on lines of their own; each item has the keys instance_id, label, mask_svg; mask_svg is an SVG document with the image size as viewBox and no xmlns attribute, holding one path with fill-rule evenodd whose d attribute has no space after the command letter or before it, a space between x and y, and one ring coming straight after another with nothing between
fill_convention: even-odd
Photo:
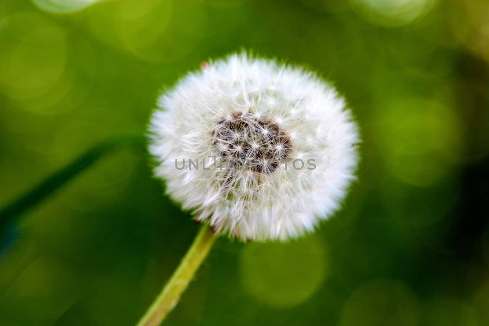
<instances>
[{"instance_id":1,"label":"dark green blurred grass blade curving left of the dandelion","mask_svg":"<svg viewBox=\"0 0 489 326\"><path fill-rule=\"evenodd\" d=\"M65 185L104 155L127 145L140 145L145 142L144 136L125 136L101 142L67 166L47 177L44 181L27 191L23 196L0 210L0 237L4 230L17 217L41 203L56 190Z\"/></svg>"}]
</instances>

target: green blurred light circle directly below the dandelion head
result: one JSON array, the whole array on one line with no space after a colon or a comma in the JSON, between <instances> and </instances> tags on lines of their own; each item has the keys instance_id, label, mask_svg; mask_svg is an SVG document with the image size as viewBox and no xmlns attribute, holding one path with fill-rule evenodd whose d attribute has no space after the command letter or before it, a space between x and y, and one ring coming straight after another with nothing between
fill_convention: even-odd
<instances>
[{"instance_id":1,"label":"green blurred light circle directly below the dandelion head","mask_svg":"<svg viewBox=\"0 0 489 326\"><path fill-rule=\"evenodd\" d=\"M256 301L274 308L307 301L326 271L324 248L316 237L289 243L249 243L239 261L245 290Z\"/></svg>"}]
</instances>

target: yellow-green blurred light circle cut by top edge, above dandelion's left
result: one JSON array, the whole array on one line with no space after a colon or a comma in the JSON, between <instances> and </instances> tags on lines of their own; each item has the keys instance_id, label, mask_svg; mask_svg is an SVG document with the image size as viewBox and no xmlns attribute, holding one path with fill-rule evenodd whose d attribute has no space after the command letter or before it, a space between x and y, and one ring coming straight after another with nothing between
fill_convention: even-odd
<instances>
[{"instance_id":1,"label":"yellow-green blurred light circle cut by top edge, above dandelion's left","mask_svg":"<svg viewBox=\"0 0 489 326\"><path fill-rule=\"evenodd\" d=\"M184 60L208 29L205 7L192 1L102 2L82 16L101 42L152 63Z\"/></svg>"}]
</instances>

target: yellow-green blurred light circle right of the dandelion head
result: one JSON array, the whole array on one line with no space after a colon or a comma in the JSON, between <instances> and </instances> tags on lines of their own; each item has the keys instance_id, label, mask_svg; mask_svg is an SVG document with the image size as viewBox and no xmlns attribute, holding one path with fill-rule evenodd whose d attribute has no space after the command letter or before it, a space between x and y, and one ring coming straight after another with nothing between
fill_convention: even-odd
<instances>
[{"instance_id":1,"label":"yellow-green blurred light circle right of the dandelion head","mask_svg":"<svg viewBox=\"0 0 489 326\"><path fill-rule=\"evenodd\" d=\"M393 176L431 187L456 167L462 135L453 109L420 98L392 99L380 107L375 136Z\"/></svg>"}]
</instances>

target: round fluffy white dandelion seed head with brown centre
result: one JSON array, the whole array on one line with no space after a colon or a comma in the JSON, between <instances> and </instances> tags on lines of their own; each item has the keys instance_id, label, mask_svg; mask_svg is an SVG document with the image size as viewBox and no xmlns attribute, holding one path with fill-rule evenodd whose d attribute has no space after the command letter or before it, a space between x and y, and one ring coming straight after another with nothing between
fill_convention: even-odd
<instances>
[{"instance_id":1,"label":"round fluffy white dandelion seed head with brown centre","mask_svg":"<svg viewBox=\"0 0 489 326\"><path fill-rule=\"evenodd\" d=\"M155 174L216 232L298 237L338 209L355 178L351 112L331 85L303 69L231 55L189 73L158 107ZM195 169L193 161L205 164Z\"/></svg>"}]
</instances>

